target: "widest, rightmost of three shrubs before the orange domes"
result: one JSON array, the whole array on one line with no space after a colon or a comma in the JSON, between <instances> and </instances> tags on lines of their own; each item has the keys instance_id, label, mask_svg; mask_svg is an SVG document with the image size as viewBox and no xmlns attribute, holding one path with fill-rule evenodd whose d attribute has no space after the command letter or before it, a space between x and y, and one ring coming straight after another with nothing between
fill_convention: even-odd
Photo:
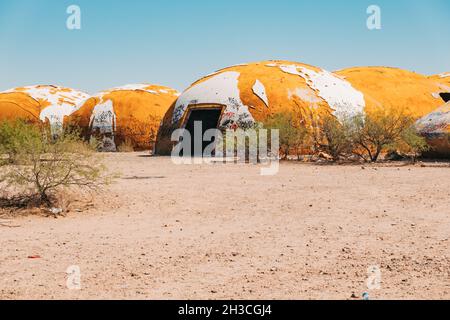
<instances>
[{"instance_id":1,"label":"widest, rightmost of three shrubs before the orange domes","mask_svg":"<svg viewBox=\"0 0 450 320\"><path fill-rule=\"evenodd\" d=\"M398 144L414 119L402 111L379 110L353 118L355 153L366 161L376 162L381 153Z\"/></svg>"}]
</instances>

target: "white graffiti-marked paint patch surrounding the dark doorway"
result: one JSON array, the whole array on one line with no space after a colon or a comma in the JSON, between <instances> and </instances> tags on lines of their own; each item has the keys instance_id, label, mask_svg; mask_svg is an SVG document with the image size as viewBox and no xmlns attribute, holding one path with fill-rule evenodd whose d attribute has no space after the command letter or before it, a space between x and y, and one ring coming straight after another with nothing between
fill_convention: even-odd
<instances>
[{"instance_id":1,"label":"white graffiti-marked paint patch surrounding the dark doorway","mask_svg":"<svg viewBox=\"0 0 450 320\"><path fill-rule=\"evenodd\" d=\"M223 72L187 89L175 104L172 123L183 117L189 105L196 104L225 105L220 126L253 123L254 119L248 111L248 106L244 105L240 97L239 76L239 72Z\"/></svg>"}]
</instances>

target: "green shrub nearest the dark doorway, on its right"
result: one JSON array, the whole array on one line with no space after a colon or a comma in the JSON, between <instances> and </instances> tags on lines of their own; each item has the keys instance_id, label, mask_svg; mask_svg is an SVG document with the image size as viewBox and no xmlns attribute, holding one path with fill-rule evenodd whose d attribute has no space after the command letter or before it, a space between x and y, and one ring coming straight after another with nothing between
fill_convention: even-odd
<instances>
[{"instance_id":1,"label":"green shrub nearest the dark doorway, on its right","mask_svg":"<svg viewBox=\"0 0 450 320\"><path fill-rule=\"evenodd\" d=\"M277 113L264 122L264 128L279 130L280 149L284 159L287 159L291 150L295 150L298 157L308 140L308 129L297 122L292 112Z\"/></svg>"}]
</instances>

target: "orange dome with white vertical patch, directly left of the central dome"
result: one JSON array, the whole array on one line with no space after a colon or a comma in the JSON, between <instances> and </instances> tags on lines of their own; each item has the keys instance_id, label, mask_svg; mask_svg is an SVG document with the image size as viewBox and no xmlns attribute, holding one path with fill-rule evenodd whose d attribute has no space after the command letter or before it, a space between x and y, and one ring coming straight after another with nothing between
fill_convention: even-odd
<instances>
[{"instance_id":1,"label":"orange dome with white vertical patch, directly left of the central dome","mask_svg":"<svg viewBox=\"0 0 450 320\"><path fill-rule=\"evenodd\" d=\"M88 99L68 123L80 127L86 138L99 138L104 151L116 151L123 143L135 150L151 149L161 120L178 95L174 89L149 84L113 88Z\"/></svg>"}]
</instances>

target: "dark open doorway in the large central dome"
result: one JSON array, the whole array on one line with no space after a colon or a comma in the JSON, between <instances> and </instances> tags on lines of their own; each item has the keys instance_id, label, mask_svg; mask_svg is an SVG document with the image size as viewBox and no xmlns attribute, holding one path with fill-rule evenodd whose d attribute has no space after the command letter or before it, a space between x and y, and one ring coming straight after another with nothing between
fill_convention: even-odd
<instances>
[{"instance_id":1,"label":"dark open doorway in the large central dome","mask_svg":"<svg viewBox=\"0 0 450 320\"><path fill-rule=\"evenodd\" d=\"M219 125L220 115L222 114L222 109L194 109L189 114L189 119L187 121L185 129L191 134L191 154L195 157L203 156L205 148L211 144L213 141L203 141L203 135L209 129L217 129ZM202 136L194 136L194 124L195 122L202 123ZM195 154L194 142L195 138L202 139L202 150L201 154ZM197 151L198 153L198 151Z\"/></svg>"}]
</instances>

